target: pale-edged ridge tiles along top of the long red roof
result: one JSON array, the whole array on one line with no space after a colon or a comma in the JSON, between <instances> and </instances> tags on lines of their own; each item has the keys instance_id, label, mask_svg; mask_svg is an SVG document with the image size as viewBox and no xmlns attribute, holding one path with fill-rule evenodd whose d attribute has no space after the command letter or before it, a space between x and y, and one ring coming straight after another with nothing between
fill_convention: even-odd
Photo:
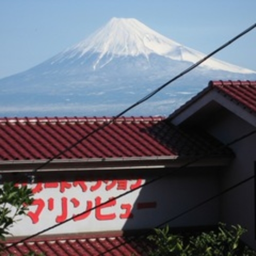
<instances>
[{"instance_id":1,"label":"pale-edged ridge tiles along top of the long red roof","mask_svg":"<svg viewBox=\"0 0 256 256\"><path fill-rule=\"evenodd\" d=\"M135 122L135 121L146 121L156 122L166 119L163 116L131 116L131 117L3 117L0 118L0 124L6 123L79 123L79 122L109 122L115 119L115 122Z\"/></svg>"}]
</instances>

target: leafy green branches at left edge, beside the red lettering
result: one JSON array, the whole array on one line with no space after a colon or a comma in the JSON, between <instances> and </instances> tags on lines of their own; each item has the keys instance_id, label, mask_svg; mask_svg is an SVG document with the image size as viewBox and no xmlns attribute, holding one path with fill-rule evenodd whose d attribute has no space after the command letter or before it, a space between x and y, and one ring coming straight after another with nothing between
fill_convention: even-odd
<instances>
[{"instance_id":1,"label":"leafy green branches at left edge, beside the red lettering","mask_svg":"<svg viewBox=\"0 0 256 256\"><path fill-rule=\"evenodd\" d=\"M27 186L17 187L6 182L0 188L0 240L4 241L9 229L19 221L18 216L26 214L32 204L32 191Z\"/></svg>"}]
</instances>

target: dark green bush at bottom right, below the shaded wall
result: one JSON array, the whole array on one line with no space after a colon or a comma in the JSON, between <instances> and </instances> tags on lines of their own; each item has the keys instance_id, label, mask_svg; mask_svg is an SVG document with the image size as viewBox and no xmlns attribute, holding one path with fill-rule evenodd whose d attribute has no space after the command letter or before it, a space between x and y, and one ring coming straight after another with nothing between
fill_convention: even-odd
<instances>
[{"instance_id":1,"label":"dark green bush at bottom right, below the shaded wall","mask_svg":"<svg viewBox=\"0 0 256 256\"><path fill-rule=\"evenodd\" d=\"M240 225L229 229L220 223L216 231L202 232L198 235L181 236L170 234L169 227L155 229L155 234L148 236L155 248L151 256L252 256L255 251L243 246L241 236L246 230Z\"/></svg>"}]
</instances>

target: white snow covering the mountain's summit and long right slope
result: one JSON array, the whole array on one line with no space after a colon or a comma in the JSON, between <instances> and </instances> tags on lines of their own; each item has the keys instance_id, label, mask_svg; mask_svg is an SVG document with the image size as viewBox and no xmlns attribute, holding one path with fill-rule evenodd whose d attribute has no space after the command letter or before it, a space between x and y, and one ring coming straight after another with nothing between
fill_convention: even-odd
<instances>
[{"instance_id":1,"label":"white snow covering the mountain's summit and long right slope","mask_svg":"<svg viewBox=\"0 0 256 256\"><path fill-rule=\"evenodd\" d=\"M155 53L172 60L192 63L196 63L206 56L159 34L136 19L118 19L114 17L89 38L56 56L52 60L52 64L74 57L82 58L88 52L99 53L99 57L94 63L94 69L106 65L115 57L121 56L136 57L142 54L149 59L149 55ZM101 63L105 56L107 56L107 61ZM242 74L254 72L214 58L207 60L202 66Z\"/></svg>"}]
</instances>

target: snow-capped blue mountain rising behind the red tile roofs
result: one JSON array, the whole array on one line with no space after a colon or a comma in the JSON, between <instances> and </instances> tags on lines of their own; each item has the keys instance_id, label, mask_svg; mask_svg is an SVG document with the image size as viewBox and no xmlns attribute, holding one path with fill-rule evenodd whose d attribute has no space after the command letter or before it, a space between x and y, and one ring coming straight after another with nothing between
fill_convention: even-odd
<instances>
[{"instance_id":1,"label":"snow-capped blue mountain rising behind the red tile roofs","mask_svg":"<svg viewBox=\"0 0 256 256\"><path fill-rule=\"evenodd\" d=\"M113 116L205 54L136 19L111 19L84 41L0 80L1 116ZM127 115L169 115L209 80L255 80L256 72L209 59Z\"/></svg>"}]
</instances>

